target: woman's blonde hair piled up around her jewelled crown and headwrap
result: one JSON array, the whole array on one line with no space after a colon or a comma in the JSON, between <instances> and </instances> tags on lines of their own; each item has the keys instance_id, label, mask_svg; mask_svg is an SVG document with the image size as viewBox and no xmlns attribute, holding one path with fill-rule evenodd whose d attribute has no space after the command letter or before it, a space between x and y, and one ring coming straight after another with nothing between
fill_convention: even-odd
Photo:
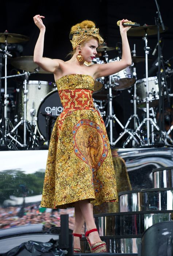
<instances>
[{"instance_id":1,"label":"woman's blonde hair piled up around her jewelled crown and headwrap","mask_svg":"<svg viewBox=\"0 0 173 256\"><path fill-rule=\"evenodd\" d=\"M93 21L88 21L88 20L82 21L81 23L77 23L76 25L71 27L71 30L70 30L70 37L71 38L73 37L73 34L75 34L78 26L81 29L85 29L85 26L87 26L88 29L91 29L93 26L96 26L96 25ZM81 43L81 45L85 44L85 42L91 40L91 38L95 38L98 41L99 45L103 44L103 42L104 42L103 38L99 34L96 34L96 35L88 36L86 38L86 40ZM75 52L76 52L76 48L73 51L71 51L68 55L73 56Z\"/></svg>"}]
</instances>

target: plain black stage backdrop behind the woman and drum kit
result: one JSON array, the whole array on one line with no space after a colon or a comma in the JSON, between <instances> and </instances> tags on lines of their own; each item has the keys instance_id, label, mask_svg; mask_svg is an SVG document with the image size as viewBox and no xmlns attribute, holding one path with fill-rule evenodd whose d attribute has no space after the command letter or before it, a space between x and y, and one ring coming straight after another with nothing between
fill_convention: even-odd
<instances>
[{"instance_id":1,"label":"plain black stage backdrop behind the woman and drum kit","mask_svg":"<svg viewBox=\"0 0 173 256\"><path fill-rule=\"evenodd\" d=\"M161 47L164 60L169 60L170 68L173 68L173 21L171 1L157 1L164 25L168 28L162 37ZM155 25L157 18L157 7L154 0L147 1L116 1L116 0L93 0L93 1L1 1L0 4L0 33L8 30L9 33L22 34L30 39L27 42L16 45L16 49L11 51L13 57L31 56L34 52L34 45L38 38L39 29L35 26L33 16L36 14L44 15L46 25L44 56L67 60L66 55L71 51L69 41L70 27L84 19L96 22L108 47L119 45L120 33L116 22L120 19L127 18L133 22ZM136 55L145 57L145 41L141 36L129 36L131 50L136 45ZM148 46L151 48L148 57L149 71L152 64L157 60L158 52L152 55L155 45L157 44L157 31L154 35L148 36ZM4 45L0 44L0 48ZM118 56L116 50L108 51L108 58L114 59ZM145 61L136 66L137 79L145 77ZM8 75L16 74L15 69L8 59ZM149 77L156 75L156 72L150 72ZM170 74L169 74L170 75ZM54 77L51 74L32 74L30 80L52 81ZM4 81L3 81L4 82ZM16 80L8 79L8 90L15 88ZM168 78L168 88L172 93L172 78ZM127 119L133 114L133 104L130 103L133 94L133 86L130 90L122 90L116 97L115 112L121 112L121 121L126 123ZM121 111L119 111L121 110ZM123 115L122 115L123 110ZM141 110L140 110L141 111ZM119 117L119 116L118 116Z\"/></svg>"}]
</instances>

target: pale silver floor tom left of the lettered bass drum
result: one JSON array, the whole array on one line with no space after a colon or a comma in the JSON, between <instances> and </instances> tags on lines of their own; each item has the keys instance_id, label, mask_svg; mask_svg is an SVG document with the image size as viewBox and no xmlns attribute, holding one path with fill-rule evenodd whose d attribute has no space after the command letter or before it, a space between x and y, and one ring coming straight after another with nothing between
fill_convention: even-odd
<instances>
[{"instance_id":1,"label":"pale silver floor tom left of the lettered bass drum","mask_svg":"<svg viewBox=\"0 0 173 256\"><path fill-rule=\"evenodd\" d=\"M27 81L27 105L26 105L26 119L32 125L36 124L36 116L38 107L44 97L55 90L56 84L47 81ZM18 115L18 120L24 118L24 83L23 87L18 90L19 97L17 97L18 102L16 103L16 115Z\"/></svg>"}]
</instances>

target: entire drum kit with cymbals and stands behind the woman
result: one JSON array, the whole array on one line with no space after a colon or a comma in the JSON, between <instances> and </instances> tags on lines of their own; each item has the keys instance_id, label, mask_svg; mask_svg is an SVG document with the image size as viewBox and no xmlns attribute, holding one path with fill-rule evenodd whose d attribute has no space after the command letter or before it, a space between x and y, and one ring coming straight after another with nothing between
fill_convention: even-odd
<instances>
[{"instance_id":1,"label":"entire drum kit with cymbals and stands behind the woman","mask_svg":"<svg viewBox=\"0 0 173 256\"><path fill-rule=\"evenodd\" d=\"M160 29L160 32L163 32ZM147 77L147 62L150 48L147 46L147 35L157 34L157 26L134 27L128 31L130 36L141 36L145 40L145 57L136 56L135 45L132 51L132 65L108 77L96 79L93 92L93 102L96 110L104 119L108 131L111 146L117 146L118 141L124 137L122 147L129 142L133 146L150 146L155 142L154 131L159 131L155 118L154 108L158 106L159 85L157 77ZM4 83L4 103L0 102L0 146L8 149L31 149L40 145L49 145L50 134L54 122L61 114L63 107L59 98L56 84L47 81L29 80L30 74L49 74L33 62L33 56L20 56L12 58L7 46L12 43L28 41L29 38L19 34L11 34L8 31L0 33L0 42L5 44L5 50L0 49L0 99L1 84ZM108 51L116 48L102 45L98 49L98 55L92 64L103 64L120 61L121 56L114 59L108 58ZM100 54L101 53L101 54ZM99 56L100 55L100 56ZM8 57L8 58L7 58ZM2 58L5 59L5 76L2 76ZM18 71L16 75L7 76L7 59ZM146 78L137 80L136 64L146 62ZM7 78L23 77L19 88L16 88L15 118L10 120L7 115L9 95L7 94ZM4 79L4 80L3 80ZM162 79L162 85L165 81ZM113 100L123 90L134 87L133 109L134 114L130 116L126 125L123 125L113 111ZM146 112L147 117L140 123L137 108ZM151 111L151 113L149 113ZM149 116L153 116L150 118ZM129 129L129 123L134 120L134 129ZM116 140L113 139L113 123L117 122L122 132ZM146 131L142 127L147 123ZM149 131L151 127L151 133ZM165 142L173 143L172 138L166 131L162 131ZM147 140L146 140L147 137ZM151 140L151 143L150 143Z\"/></svg>"}]
</instances>

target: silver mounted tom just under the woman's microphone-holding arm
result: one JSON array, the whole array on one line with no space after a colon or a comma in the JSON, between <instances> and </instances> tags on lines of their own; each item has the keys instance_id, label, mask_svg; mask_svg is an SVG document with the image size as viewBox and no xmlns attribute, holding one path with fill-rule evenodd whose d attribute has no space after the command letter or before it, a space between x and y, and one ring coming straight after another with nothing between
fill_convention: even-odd
<instances>
[{"instance_id":1,"label":"silver mounted tom just under the woman's microphone-holding arm","mask_svg":"<svg viewBox=\"0 0 173 256\"><path fill-rule=\"evenodd\" d=\"M121 60L119 58L109 60L109 62L114 62L114 61L121 61ZM135 83L132 65L124 68L118 73L111 75L110 77L111 77L111 84L113 85L115 84L115 88L114 88L115 90L124 90L124 89L130 88Z\"/></svg>"}]
</instances>

